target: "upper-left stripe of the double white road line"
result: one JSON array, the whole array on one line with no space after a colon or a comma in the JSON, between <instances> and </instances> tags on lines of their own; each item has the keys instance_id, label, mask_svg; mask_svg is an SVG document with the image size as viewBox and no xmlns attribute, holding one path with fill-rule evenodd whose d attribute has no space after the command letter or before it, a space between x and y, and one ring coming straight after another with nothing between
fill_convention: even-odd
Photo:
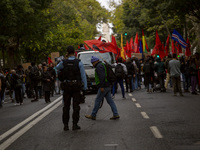
<instances>
[{"instance_id":1,"label":"upper-left stripe of the double white road line","mask_svg":"<svg viewBox=\"0 0 200 150\"><path fill-rule=\"evenodd\" d=\"M51 106L53 106L55 103L57 103L61 99L62 99L62 96L60 96L59 98L57 98L56 100L54 100L52 103L50 103L49 105L47 105L43 109L41 109L38 112L34 113L30 117L28 117L27 119L25 119L24 121L22 121L21 123L17 124L16 126L14 126L13 128L11 128L10 130L8 130L7 132L5 132L4 134L0 135L0 141L3 140L4 138L6 138L7 136L9 136L10 134L12 134L13 132L15 132L17 129L21 128L23 125L25 125L26 123L28 123L29 121L31 121L35 117L37 117L42 112L44 112L47 109L49 109Z\"/></svg>"}]
</instances>

